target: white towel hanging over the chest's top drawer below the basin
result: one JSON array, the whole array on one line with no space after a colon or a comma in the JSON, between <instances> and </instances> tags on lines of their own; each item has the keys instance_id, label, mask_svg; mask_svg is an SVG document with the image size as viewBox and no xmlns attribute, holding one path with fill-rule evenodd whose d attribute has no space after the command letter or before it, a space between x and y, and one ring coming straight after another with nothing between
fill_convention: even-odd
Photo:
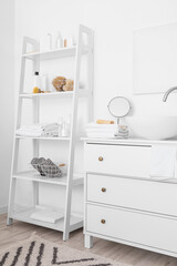
<instances>
[{"instance_id":1,"label":"white towel hanging over the chest's top drawer below the basin","mask_svg":"<svg viewBox=\"0 0 177 266\"><path fill-rule=\"evenodd\" d=\"M153 145L150 158L150 176L156 178L175 178L177 149L166 145Z\"/></svg>"}]
</instances>

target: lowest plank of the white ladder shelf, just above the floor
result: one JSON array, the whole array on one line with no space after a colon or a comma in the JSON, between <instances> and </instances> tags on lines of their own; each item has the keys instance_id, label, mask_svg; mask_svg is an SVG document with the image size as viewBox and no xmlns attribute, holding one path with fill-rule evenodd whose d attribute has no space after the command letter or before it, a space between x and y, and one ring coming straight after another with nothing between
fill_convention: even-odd
<instances>
[{"instance_id":1,"label":"lowest plank of the white ladder shelf, just above the floor","mask_svg":"<svg viewBox=\"0 0 177 266\"><path fill-rule=\"evenodd\" d=\"M37 212L38 209L40 209L40 208L39 207L30 207L30 208L25 208L25 209L22 209L19 212L14 212L14 213L12 213L11 218L18 219L21 222L25 222L25 223L30 223L30 224L35 224L35 225L55 229L55 231L61 231L61 232L64 231L64 218L61 218L59 222L56 222L54 224L31 218L30 216L32 215L32 213ZM61 212L63 213L63 211L61 211ZM70 219L70 225L71 225L70 232L81 228L83 226L83 217L75 216L74 214L72 214L71 219Z\"/></svg>"}]
</instances>

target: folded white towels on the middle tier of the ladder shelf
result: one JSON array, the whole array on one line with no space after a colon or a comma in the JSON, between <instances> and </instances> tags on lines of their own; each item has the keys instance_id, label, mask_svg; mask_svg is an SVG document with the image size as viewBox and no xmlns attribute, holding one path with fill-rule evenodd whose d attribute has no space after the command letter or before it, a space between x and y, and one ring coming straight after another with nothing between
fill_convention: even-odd
<instances>
[{"instance_id":1,"label":"folded white towels on the middle tier of the ladder shelf","mask_svg":"<svg viewBox=\"0 0 177 266\"><path fill-rule=\"evenodd\" d=\"M17 130L17 135L20 136L58 136L59 125L56 123L33 124L21 126Z\"/></svg>"}]
</instances>

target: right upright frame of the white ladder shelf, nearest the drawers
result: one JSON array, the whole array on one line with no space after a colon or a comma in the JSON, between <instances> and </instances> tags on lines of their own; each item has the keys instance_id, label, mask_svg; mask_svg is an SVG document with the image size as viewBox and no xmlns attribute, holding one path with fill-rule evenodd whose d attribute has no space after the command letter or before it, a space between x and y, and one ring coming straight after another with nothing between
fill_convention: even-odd
<instances>
[{"instance_id":1,"label":"right upright frame of the white ladder shelf, nearest the drawers","mask_svg":"<svg viewBox=\"0 0 177 266\"><path fill-rule=\"evenodd\" d=\"M92 94L93 94L93 31L85 25L80 24L79 38L77 38L77 49L76 49L76 60L75 60L75 79L74 79L74 95L73 95L73 106L72 106L72 127L71 127L71 143L69 152L69 174L67 174L67 185L65 195L65 214L64 214L64 232L63 241L69 239L71 226L71 202L72 202L72 188L73 188L73 170L74 170L74 151L76 142L76 120L77 120L77 101L79 101L79 84L80 84L80 73L81 73L81 58L82 49L85 47L83 43L83 34L87 37L87 57L88 57L88 121L92 117ZM92 79L92 81L91 81ZM75 225L75 228L80 225ZM81 225L82 226L82 225ZM72 228L73 231L73 228Z\"/></svg>"}]
</instances>

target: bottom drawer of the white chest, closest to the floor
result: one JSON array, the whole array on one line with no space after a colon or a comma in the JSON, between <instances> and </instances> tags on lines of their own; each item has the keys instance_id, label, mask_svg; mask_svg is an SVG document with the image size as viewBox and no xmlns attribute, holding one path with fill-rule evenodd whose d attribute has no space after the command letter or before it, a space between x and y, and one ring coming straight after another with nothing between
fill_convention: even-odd
<instances>
[{"instance_id":1,"label":"bottom drawer of the white chest, closest to the floor","mask_svg":"<svg viewBox=\"0 0 177 266\"><path fill-rule=\"evenodd\" d=\"M177 221L87 204L86 231L177 253Z\"/></svg>"}]
</instances>

